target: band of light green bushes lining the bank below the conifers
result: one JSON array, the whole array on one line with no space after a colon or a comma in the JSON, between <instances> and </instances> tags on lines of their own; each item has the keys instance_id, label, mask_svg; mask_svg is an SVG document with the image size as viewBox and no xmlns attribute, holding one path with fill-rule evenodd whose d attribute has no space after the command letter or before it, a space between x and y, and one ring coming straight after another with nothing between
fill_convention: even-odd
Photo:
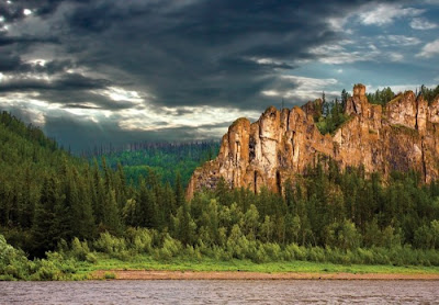
<instances>
[{"instance_id":1,"label":"band of light green bushes lining the bank below the conifers","mask_svg":"<svg viewBox=\"0 0 439 305\"><path fill-rule=\"evenodd\" d=\"M90 246L89 246L90 244ZM99 260L122 261L157 260L172 263L172 260L200 261L213 259L221 263L233 259L268 262L330 262L336 264L382 264L382 266L439 266L439 251L413 249L409 246L371 248L305 247L295 242L278 245L250 240L235 226L225 240L225 247L206 246L201 239L195 246L183 246L169 234L130 228L125 237L101 234L93 242L74 239L70 246L58 245L58 251L47 252L46 259L27 260L24 253L5 244L0 236L0 280L85 280L90 275L78 274L78 269L90 269ZM123 262L120 264L123 266ZM92 270L92 268L90 269ZM105 279L110 279L106 278Z\"/></svg>"}]
</instances>

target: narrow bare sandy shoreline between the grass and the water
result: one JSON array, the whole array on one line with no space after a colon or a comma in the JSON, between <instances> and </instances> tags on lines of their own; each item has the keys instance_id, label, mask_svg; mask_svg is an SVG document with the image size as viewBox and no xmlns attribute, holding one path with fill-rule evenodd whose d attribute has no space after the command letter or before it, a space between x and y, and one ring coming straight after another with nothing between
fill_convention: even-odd
<instances>
[{"instance_id":1,"label":"narrow bare sandy shoreline between the grass and the water","mask_svg":"<svg viewBox=\"0 0 439 305\"><path fill-rule=\"evenodd\" d=\"M114 279L105 278L114 275ZM97 270L91 280L425 280L439 281L439 273L348 273L348 272L250 272L250 271L164 271Z\"/></svg>"}]
</instances>

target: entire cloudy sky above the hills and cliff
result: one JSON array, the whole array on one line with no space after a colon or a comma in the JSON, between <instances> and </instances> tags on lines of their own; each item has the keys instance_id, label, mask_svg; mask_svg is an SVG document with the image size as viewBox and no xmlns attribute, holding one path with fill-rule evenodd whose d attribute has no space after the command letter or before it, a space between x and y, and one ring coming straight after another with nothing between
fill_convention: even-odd
<instances>
[{"instance_id":1,"label":"entire cloudy sky above the hills and cliff","mask_svg":"<svg viewBox=\"0 0 439 305\"><path fill-rule=\"evenodd\" d=\"M0 0L0 110L74 151L439 83L439 0Z\"/></svg>"}]
</instances>

